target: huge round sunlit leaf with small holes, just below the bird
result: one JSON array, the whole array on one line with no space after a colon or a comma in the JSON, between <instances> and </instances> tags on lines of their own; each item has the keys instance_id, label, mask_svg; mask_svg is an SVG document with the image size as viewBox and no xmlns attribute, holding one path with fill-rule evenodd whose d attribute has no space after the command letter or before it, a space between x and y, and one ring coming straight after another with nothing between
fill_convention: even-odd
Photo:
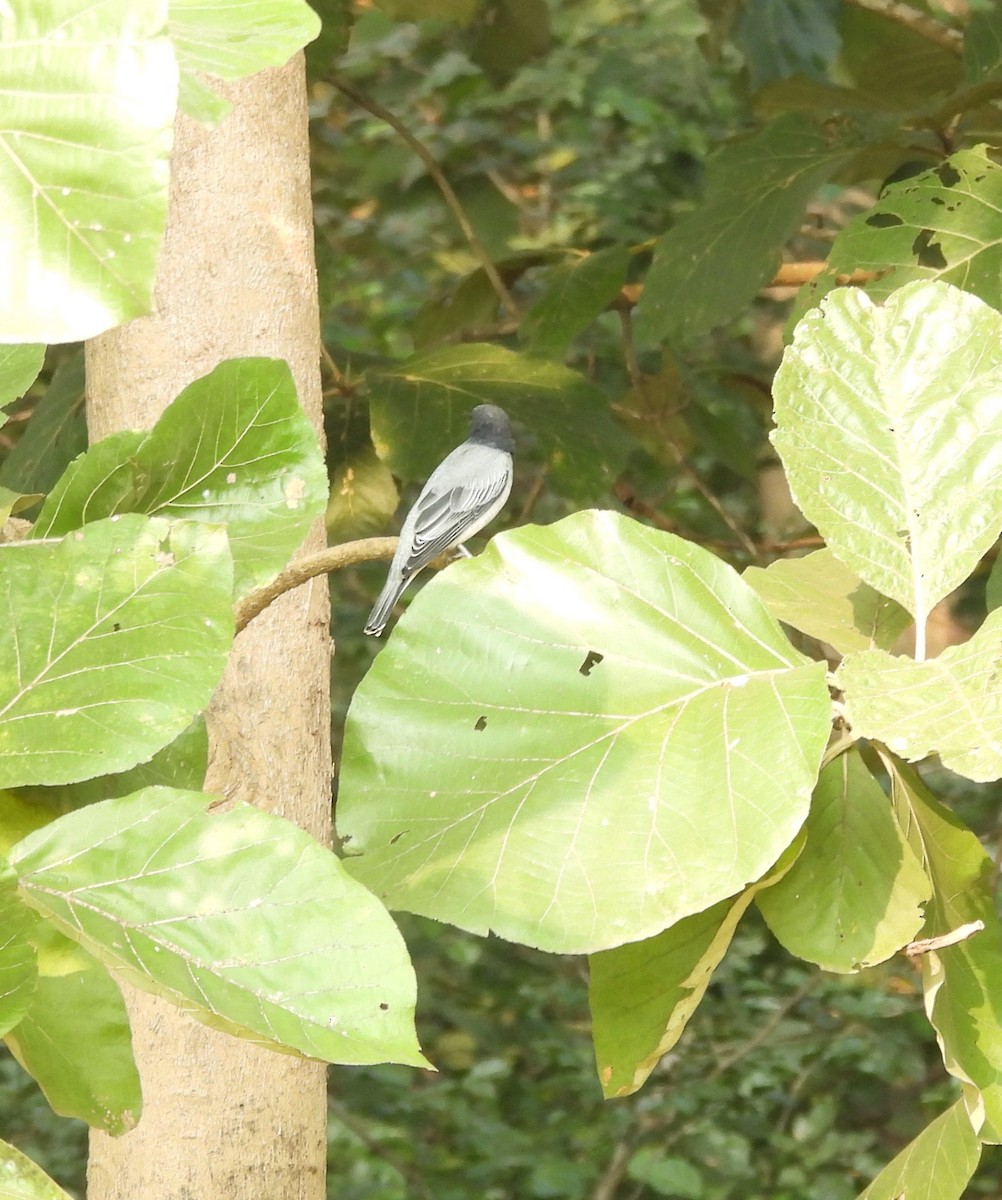
<instances>
[{"instance_id":1,"label":"huge round sunlit leaf with small holes, just below the bird","mask_svg":"<svg viewBox=\"0 0 1002 1200\"><path fill-rule=\"evenodd\" d=\"M707 551L613 512L528 526L439 572L355 692L347 862L475 932L637 941L776 860L829 721L824 665Z\"/></svg>"}]
</instances>

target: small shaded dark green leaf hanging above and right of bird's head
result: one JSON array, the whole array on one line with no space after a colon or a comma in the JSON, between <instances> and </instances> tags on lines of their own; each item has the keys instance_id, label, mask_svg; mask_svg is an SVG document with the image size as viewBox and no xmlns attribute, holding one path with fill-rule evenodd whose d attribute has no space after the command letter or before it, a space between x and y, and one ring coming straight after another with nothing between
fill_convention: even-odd
<instances>
[{"instance_id":1,"label":"small shaded dark green leaf hanging above and right of bird's head","mask_svg":"<svg viewBox=\"0 0 1002 1200\"><path fill-rule=\"evenodd\" d=\"M629 266L626 246L607 246L551 268L542 295L522 318L518 337L533 354L563 358L571 340L619 295Z\"/></svg>"}]
</instances>

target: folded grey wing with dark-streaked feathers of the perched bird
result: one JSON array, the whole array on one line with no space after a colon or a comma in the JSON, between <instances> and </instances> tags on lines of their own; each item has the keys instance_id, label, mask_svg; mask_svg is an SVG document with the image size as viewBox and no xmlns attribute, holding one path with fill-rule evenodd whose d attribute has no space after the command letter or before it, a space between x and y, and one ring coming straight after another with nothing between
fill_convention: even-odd
<instances>
[{"instance_id":1,"label":"folded grey wing with dark-streaked feathers of the perched bird","mask_svg":"<svg viewBox=\"0 0 1002 1200\"><path fill-rule=\"evenodd\" d=\"M497 462L488 473L442 488L434 476L414 505L410 554L403 565L406 575L420 571L443 551L458 545L481 529L508 499L511 490L511 458L494 452Z\"/></svg>"}]
</instances>

